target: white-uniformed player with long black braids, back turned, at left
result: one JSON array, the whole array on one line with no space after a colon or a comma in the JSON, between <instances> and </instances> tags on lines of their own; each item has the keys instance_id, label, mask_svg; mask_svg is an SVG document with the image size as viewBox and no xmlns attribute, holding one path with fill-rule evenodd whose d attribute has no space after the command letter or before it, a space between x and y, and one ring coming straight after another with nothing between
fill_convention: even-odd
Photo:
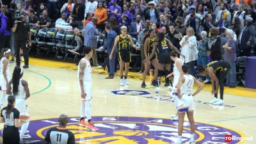
<instances>
[{"instance_id":1,"label":"white-uniformed player with long black braids, back turned, at left","mask_svg":"<svg viewBox=\"0 0 256 144\"><path fill-rule=\"evenodd\" d=\"M13 70L12 79L10 80L6 90L6 94L8 96L13 95L15 97L15 108L17 108L20 111L20 113L24 111L29 112L26 99L30 97L28 82L22 79L22 76L22 68L16 66ZM28 129L28 125L29 120L26 124L22 125L20 129L20 143L23 143L22 138Z\"/></svg>"}]
</instances>

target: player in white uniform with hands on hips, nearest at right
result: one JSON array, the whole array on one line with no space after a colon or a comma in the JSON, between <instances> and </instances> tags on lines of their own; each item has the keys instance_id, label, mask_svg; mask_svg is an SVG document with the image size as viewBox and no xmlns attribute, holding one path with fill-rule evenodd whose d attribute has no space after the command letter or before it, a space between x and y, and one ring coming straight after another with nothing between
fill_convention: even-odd
<instances>
[{"instance_id":1,"label":"player in white uniform with hands on hips, nearest at right","mask_svg":"<svg viewBox=\"0 0 256 144\"><path fill-rule=\"evenodd\" d=\"M195 111L195 103L194 96L199 93L204 86L198 81L194 76L189 75L189 66L182 65L183 76L180 76L179 83L177 84L177 113L179 116L179 127L178 127L178 141L177 144L182 143L182 132L183 132L183 123L184 117L187 113L188 120L190 123L191 129L191 138L186 144L195 144L195 122L194 122L194 111ZM198 86L198 89L195 93L191 94L191 90L193 88L193 84Z\"/></svg>"}]
</instances>

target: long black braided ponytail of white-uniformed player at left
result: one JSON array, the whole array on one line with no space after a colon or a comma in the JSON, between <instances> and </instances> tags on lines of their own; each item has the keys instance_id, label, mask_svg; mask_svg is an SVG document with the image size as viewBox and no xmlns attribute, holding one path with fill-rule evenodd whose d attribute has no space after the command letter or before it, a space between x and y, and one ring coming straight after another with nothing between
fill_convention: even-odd
<instances>
[{"instance_id":1,"label":"long black braided ponytail of white-uniformed player at left","mask_svg":"<svg viewBox=\"0 0 256 144\"><path fill-rule=\"evenodd\" d=\"M14 96L18 95L21 74L22 74L21 68L16 66L12 74L12 85L13 85L12 92Z\"/></svg>"}]
</instances>

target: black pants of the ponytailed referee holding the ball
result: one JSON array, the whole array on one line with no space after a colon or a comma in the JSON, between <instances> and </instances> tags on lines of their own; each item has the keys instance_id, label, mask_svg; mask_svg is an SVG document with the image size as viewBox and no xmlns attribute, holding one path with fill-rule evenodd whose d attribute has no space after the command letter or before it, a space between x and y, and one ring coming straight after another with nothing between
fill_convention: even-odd
<instances>
[{"instance_id":1,"label":"black pants of the ponytailed referee holding the ball","mask_svg":"<svg viewBox=\"0 0 256 144\"><path fill-rule=\"evenodd\" d=\"M15 126L8 126L3 131L3 144L19 144L19 129Z\"/></svg>"}]
</instances>

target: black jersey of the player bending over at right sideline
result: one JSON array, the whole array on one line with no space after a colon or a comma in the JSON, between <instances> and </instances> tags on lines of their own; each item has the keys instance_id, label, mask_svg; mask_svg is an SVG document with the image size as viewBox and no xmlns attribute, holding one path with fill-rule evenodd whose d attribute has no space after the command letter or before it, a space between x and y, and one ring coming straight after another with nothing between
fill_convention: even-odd
<instances>
[{"instance_id":1,"label":"black jersey of the player bending over at right sideline","mask_svg":"<svg viewBox=\"0 0 256 144\"><path fill-rule=\"evenodd\" d=\"M205 67L205 70L207 68L212 67L214 73L221 72L223 70L229 70L229 63L227 61L212 61L211 63L208 63Z\"/></svg>"}]
</instances>

